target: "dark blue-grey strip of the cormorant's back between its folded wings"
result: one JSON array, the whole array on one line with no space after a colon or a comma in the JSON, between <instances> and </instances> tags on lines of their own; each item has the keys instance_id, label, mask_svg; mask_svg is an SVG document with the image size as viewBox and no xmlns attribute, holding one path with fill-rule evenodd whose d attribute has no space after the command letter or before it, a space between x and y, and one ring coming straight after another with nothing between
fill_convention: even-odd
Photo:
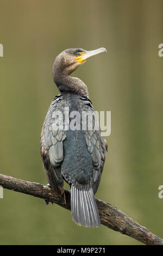
<instances>
[{"instance_id":1,"label":"dark blue-grey strip of the cormorant's back between its folded wings","mask_svg":"<svg viewBox=\"0 0 163 256\"><path fill-rule=\"evenodd\" d=\"M82 113L89 108L84 104L84 98L76 94L67 94L65 98L68 102L70 123L63 142L64 160L61 171L67 182L78 184L78 187L90 187L93 164L87 150L85 131L82 130ZM93 108L91 110L94 111Z\"/></svg>"}]
</instances>

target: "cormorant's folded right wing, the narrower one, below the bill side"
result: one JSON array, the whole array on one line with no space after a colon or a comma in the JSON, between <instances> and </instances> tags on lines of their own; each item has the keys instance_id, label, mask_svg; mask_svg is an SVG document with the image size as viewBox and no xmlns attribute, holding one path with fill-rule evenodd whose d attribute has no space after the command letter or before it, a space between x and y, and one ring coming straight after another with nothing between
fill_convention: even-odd
<instances>
[{"instance_id":1,"label":"cormorant's folded right wing, the narrower one, below the bill side","mask_svg":"<svg viewBox=\"0 0 163 256\"><path fill-rule=\"evenodd\" d=\"M82 100L84 102L84 105L87 106L84 107L88 116L86 120L86 130L84 132L87 150L91 154L93 164L91 187L93 189L93 193L95 194L101 180L107 144L101 135L101 130L99 128L98 120L91 101L86 97L82 97ZM92 118L92 115L95 118Z\"/></svg>"}]
</instances>

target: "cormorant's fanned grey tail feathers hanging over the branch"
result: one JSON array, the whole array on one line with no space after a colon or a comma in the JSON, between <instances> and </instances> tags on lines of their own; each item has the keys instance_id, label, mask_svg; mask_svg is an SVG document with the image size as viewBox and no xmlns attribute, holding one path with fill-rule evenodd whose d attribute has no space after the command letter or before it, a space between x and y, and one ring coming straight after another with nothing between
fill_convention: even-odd
<instances>
[{"instance_id":1,"label":"cormorant's fanned grey tail feathers hanging over the branch","mask_svg":"<svg viewBox=\"0 0 163 256\"><path fill-rule=\"evenodd\" d=\"M95 202L95 197L90 190L79 190L71 187L71 211L74 222L84 227L99 227L100 218Z\"/></svg>"}]
</instances>

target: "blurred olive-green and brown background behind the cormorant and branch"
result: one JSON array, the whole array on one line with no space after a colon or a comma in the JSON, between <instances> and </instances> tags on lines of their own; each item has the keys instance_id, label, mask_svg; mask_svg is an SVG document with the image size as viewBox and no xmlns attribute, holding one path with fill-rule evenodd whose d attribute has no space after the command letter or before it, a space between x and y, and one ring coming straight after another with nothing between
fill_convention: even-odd
<instances>
[{"instance_id":1,"label":"blurred olive-green and brown background behind the cormorant and branch","mask_svg":"<svg viewBox=\"0 0 163 256\"><path fill-rule=\"evenodd\" d=\"M163 1L1 0L0 173L47 184L40 133L53 97L55 57L66 48L105 47L73 76L97 111L111 111L108 154L96 197L163 237ZM66 186L68 188L68 186ZM71 212L4 190L1 245L139 245L101 225L78 227Z\"/></svg>"}]
</instances>

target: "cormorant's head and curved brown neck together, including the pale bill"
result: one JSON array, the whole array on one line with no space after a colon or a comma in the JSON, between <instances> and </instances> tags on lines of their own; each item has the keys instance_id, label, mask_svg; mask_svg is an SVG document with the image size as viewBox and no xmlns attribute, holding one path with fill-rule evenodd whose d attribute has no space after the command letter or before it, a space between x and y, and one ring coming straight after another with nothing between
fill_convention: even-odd
<instances>
[{"instance_id":1,"label":"cormorant's head and curved brown neck together, including the pale bill","mask_svg":"<svg viewBox=\"0 0 163 256\"><path fill-rule=\"evenodd\" d=\"M71 73L92 56L106 52L105 48L85 51L82 48L71 48L61 52L53 65L53 79L60 92L74 92L89 96L86 84Z\"/></svg>"}]
</instances>

